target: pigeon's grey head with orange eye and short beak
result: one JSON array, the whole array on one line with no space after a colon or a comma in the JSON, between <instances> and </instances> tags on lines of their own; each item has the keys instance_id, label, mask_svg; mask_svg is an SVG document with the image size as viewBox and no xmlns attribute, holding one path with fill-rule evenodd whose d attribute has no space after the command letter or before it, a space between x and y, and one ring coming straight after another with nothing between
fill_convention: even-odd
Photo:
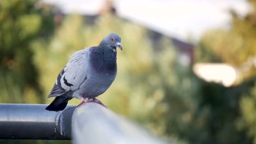
<instances>
[{"instance_id":1,"label":"pigeon's grey head with orange eye and short beak","mask_svg":"<svg viewBox=\"0 0 256 144\"><path fill-rule=\"evenodd\" d=\"M110 33L108 34L102 41L101 44L103 45L109 45L110 47L119 47L120 50L123 50L122 44L121 44L121 38L118 34Z\"/></svg>"}]
</instances>

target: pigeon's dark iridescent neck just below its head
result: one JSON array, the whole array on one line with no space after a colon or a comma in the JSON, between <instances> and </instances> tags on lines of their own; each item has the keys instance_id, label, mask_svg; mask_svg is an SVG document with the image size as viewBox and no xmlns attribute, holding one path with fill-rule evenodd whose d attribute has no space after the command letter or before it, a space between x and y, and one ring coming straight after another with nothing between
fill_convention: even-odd
<instances>
[{"instance_id":1,"label":"pigeon's dark iridescent neck just below its head","mask_svg":"<svg viewBox=\"0 0 256 144\"><path fill-rule=\"evenodd\" d=\"M95 70L102 73L111 73L117 70L117 49L116 47L92 47L90 52L91 64Z\"/></svg>"}]
</instances>

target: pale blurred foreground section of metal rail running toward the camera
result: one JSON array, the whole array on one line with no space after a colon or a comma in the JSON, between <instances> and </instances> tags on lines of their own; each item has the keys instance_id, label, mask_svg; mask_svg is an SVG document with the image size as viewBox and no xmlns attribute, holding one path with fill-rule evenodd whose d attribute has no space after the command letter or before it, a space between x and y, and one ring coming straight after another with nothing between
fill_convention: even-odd
<instances>
[{"instance_id":1,"label":"pale blurred foreground section of metal rail running toward the camera","mask_svg":"<svg viewBox=\"0 0 256 144\"><path fill-rule=\"evenodd\" d=\"M163 144L148 130L118 116L109 109L86 103L75 109L72 117L72 143L147 143Z\"/></svg>"}]
</instances>

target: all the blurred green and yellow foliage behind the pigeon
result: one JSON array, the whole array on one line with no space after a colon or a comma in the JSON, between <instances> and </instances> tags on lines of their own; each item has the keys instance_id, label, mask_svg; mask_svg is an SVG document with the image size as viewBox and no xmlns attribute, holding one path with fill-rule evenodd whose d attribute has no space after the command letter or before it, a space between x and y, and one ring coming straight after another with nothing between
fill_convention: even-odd
<instances>
[{"instance_id":1,"label":"all the blurred green and yellow foliage behind the pigeon","mask_svg":"<svg viewBox=\"0 0 256 144\"><path fill-rule=\"evenodd\" d=\"M161 51L155 51L146 28L113 14L94 22L81 15L58 18L50 6L37 1L2 0L1 103L49 104L53 99L46 97L69 57L114 32L124 50L118 50L116 80L99 97L109 109L177 143L256 143L256 73L251 63L256 54L256 1L250 2L251 13L239 17L231 11L231 28L206 32L195 50L196 62L229 63L240 71L236 85L226 88L180 65L169 38L163 37Z\"/></svg>"}]
</instances>

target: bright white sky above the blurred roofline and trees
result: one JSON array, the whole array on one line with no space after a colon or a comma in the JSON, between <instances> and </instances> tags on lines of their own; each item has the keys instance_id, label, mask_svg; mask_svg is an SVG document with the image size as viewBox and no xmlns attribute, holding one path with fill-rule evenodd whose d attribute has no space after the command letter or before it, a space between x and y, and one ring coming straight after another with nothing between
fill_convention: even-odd
<instances>
[{"instance_id":1,"label":"bright white sky above the blurred roofline and trees","mask_svg":"<svg viewBox=\"0 0 256 144\"><path fill-rule=\"evenodd\" d=\"M104 0L42 0L57 5L63 13L93 15ZM197 41L211 28L229 28L234 9L240 16L248 13L245 0L115 0L120 17L147 26L163 34Z\"/></svg>"}]
</instances>

